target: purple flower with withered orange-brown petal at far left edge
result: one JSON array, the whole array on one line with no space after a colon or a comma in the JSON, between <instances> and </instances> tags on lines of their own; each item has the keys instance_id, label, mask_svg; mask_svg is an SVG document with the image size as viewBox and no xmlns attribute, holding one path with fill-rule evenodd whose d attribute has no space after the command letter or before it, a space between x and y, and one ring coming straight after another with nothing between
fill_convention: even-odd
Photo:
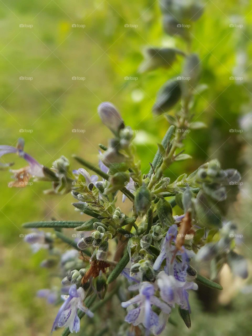
<instances>
[{"instance_id":1,"label":"purple flower with withered orange-brown petal at far left edge","mask_svg":"<svg viewBox=\"0 0 252 336\"><path fill-rule=\"evenodd\" d=\"M0 145L0 157L5 154L16 153L19 157L25 159L29 166L17 170L11 170L15 181L8 183L9 187L25 187L32 176L44 177L43 166L33 157L24 152L24 139L20 138L16 147ZM7 164L9 166L10 164Z\"/></svg>"}]
</instances>

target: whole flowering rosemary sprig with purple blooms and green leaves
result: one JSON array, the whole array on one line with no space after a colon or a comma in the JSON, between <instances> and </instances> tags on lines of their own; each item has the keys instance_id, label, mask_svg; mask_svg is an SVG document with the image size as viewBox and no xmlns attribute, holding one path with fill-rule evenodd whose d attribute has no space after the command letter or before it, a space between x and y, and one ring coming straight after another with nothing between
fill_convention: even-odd
<instances>
[{"instance_id":1,"label":"whole flowering rosemary sprig with purple blooms and green leaves","mask_svg":"<svg viewBox=\"0 0 252 336\"><path fill-rule=\"evenodd\" d=\"M191 22L190 17L200 17L202 6L194 1L187 6L184 1L164 0L161 8L165 31L178 34L186 41L188 32L174 17ZM127 310L124 321L119 322L122 335L159 335L175 305L190 327L189 292L197 290L197 283L221 289L213 280L225 263L235 275L248 276L247 262L237 253L236 226L226 221L221 210L221 202L228 201L226 188L238 184L239 172L222 170L217 160L211 160L174 181L165 175L173 162L191 158L181 151L189 126L204 126L191 122L190 110L193 89L200 77L200 60L196 54L178 49L149 48L143 65L144 71L171 66L178 55L184 58L181 78L189 80L169 80L158 94L153 112L160 115L173 109L176 118L166 115L171 125L158 144L147 174L142 173L135 155L135 132L125 126L121 114L110 102L100 104L98 114L113 137L108 146L99 144L102 152L97 151L95 164L74 156L79 166L73 170L70 161L61 156L48 168L24 152L22 139L16 147L0 146L0 157L15 153L28 162L25 168L11 170L14 181L9 183L10 187L24 187L30 178L51 181L52 187L46 193L69 193L75 210L89 218L24 224L33 229L25 237L33 252L42 248L48 251L48 258L41 266L52 269L52 275L62 279L61 288L54 286L38 292L49 303L65 300L61 302L52 331L66 327L64 336L78 332L84 314L107 319L108 310L116 312L120 305ZM11 165L2 163L1 168ZM121 193L123 199L118 206ZM131 213L122 208L126 199ZM38 228L53 231L44 233ZM75 229L80 236L70 238L68 228ZM71 249L61 251L58 241ZM192 260L196 268L202 262L216 265L211 267L211 279L198 274L191 266ZM60 296L66 293L69 294ZM114 306L114 295L120 300L117 306ZM106 304L108 307L103 308ZM97 309L104 310L98 315ZM86 323L89 335L97 332L94 329L97 324L90 323L90 319ZM107 323L105 330L111 332L113 323Z\"/></svg>"}]
</instances>

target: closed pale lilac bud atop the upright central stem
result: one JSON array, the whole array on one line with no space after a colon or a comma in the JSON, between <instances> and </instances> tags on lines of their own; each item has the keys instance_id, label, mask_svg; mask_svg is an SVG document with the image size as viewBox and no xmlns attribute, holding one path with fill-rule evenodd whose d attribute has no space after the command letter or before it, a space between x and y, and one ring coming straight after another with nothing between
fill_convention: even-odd
<instances>
[{"instance_id":1,"label":"closed pale lilac bud atop the upright central stem","mask_svg":"<svg viewBox=\"0 0 252 336\"><path fill-rule=\"evenodd\" d=\"M98 106L98 114L101 121L113 133L118 134L121 128L124 128L124 122L116 107L110 102L103 102Z\"/></svg>"}]
</instances>

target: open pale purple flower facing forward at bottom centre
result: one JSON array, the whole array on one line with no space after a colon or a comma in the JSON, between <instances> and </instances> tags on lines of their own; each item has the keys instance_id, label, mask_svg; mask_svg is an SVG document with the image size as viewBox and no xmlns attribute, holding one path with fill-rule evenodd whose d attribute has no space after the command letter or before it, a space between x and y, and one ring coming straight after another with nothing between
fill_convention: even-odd
<instances>
[{"instance_id":1,"label":"open pale purple flower facing forward at bottom centre","mask_svg":"<svg viewBox=\"0 0 252 336\"><path fill-rule=\"evenodd\" d=\"M155 288L151 283L143 282L130 286L129 289L135 290L137 287L140 287L139 294L126 302L122 302L124 308L132 304L138 305L137 308L128 311L125 321L133 324L133 326L142 323L146 328L146 335L149 335L150 330L158 335L164 329L164 319L159 320L158 314L152 310L152 305L159 307L165 314L170 313L171 307L154 296Z\"/></svg>"}]
</instances>

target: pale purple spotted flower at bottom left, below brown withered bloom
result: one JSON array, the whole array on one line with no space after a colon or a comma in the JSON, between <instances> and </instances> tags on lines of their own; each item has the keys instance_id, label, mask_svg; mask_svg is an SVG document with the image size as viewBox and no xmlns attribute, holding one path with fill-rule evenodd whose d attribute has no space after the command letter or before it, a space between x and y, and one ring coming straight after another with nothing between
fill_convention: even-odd
<instances>
[{"instance_id":1,"label":"pale purple spotted flower at bottom left, below brown withered bloom","mask_svg":"<svg viewBox=\"0 0 252 336\"><path fill-rule=\"evenodd\" d=\"M83 305L85 292L83 288L76 287L76 284L70 287L69 295L61 295L65 300L59 308L57 316L52 325L52 332L57 327L69 327L70 332L80 331L80 319L78 317L78 308L84 311L89 317L93 317L93 313Z\"/></svg>"}]
</instances>

